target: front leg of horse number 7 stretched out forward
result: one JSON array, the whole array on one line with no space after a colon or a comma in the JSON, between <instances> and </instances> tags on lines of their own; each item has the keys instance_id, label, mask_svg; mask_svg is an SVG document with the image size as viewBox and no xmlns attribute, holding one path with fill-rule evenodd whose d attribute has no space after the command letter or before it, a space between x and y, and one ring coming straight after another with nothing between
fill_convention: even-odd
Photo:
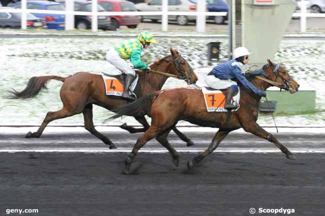
<instances>
[{"instance_id":1,"label":"front leg of horse number 7 stretched out forward","mask_svg":"<svg viewBox=\"0 0 325 216\"><path fill-rule=\"evenodd\" d=\"M272 134L265 131L262 127L260 127L255 121L249 121L249 124L242 124L242 128L249 133L252 133L260 138L263 138L271 143L273 143L277 148L281 150L286 155L288 159L295 159L292 153L283 146Z\"/></svg>"}]
</instances>

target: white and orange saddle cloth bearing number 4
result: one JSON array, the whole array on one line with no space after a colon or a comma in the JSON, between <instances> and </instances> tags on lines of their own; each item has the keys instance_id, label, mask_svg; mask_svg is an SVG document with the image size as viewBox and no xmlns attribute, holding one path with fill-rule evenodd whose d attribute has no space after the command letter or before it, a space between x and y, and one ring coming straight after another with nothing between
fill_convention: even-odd
<instances>
[{"instance_id":1,"label":"white and orange saddle cloth bearing number 4","mask_svg":"<svg viewBox=\"0 0 325 216\"><path fill-rule=\"evenodd\" d=\"M105 83L105 92L106 95L115 98L120 99L122 96L122 93L124 91L124 83L125 83L125 74L118 74L118 75L111 75L101 72L102 79ZM133 80L132 84L129 87L130 93L135 97L135 99L139 96L140 93L140 85L137 82L138 81L138 75L135 76L135 79Z\"/></svg>"}]
</instances>

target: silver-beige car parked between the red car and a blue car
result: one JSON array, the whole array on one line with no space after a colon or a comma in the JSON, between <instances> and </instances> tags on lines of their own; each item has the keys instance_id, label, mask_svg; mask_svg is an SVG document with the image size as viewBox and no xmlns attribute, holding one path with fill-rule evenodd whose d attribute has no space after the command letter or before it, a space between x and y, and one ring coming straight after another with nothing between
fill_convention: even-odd
<instances>
[{"instance_id":1,"label":"silver-beige car parked between the red car and a blue car","mask_svg":"<svg viewBox=\"0 0 325 216\"><path fill-rule=\"evenodd\" d=\"M151 0L146 3L135 4L138 11L161 11L161 0ZM168 11L196 11L196 0L168 0ZM143 15L142 19L151 19L156 22L161 15ZM176 20L179 25L195 22L196 16L168 15L168 20Z\"/></svg>"}]
</instances>

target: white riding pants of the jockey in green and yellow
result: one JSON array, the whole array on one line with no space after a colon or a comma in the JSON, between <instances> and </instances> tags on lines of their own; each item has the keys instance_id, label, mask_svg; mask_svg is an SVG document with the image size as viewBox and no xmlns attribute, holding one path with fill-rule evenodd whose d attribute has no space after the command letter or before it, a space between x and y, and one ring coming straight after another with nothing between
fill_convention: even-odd
<instances>
[{"instance_id":1,"label":"white riding pants of the jockey in green and yellow","mask_svg":"<svg viewBox=\"0 0 325 216\"><path fill-rule=\"evenodd\" d=\"M111 48L106 53L106 60L114 65L118 70L127 75L135 76L135 71L122 59L114 48Z\"/></svg>"}]
</instances>

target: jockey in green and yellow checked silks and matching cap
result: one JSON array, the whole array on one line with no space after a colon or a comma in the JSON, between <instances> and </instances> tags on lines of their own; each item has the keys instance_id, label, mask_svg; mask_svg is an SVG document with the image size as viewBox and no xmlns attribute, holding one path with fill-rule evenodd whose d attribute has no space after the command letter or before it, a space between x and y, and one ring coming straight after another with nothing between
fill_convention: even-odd
<instances>
[{"instance_id":1,"label":"jockey in green and yellow checked silks and matching cap","mask_svg":"<svg viewBox=\"0 0 325 216\"><path fill-rule=\"evenodd\" d=\"M135 78L135 71L126 63L125 60L130 59L136 69L150 70L150 67L141 61L141 51L147 48L150 43L154 43L155 39L148 31L142 31L137 36L137 39L129 39L119 45L108 50L106 60L119 69L127 76L125 78L123 98L134 100L134 97L129 95L129 86Z\"/></svg>"}]
</instances>

